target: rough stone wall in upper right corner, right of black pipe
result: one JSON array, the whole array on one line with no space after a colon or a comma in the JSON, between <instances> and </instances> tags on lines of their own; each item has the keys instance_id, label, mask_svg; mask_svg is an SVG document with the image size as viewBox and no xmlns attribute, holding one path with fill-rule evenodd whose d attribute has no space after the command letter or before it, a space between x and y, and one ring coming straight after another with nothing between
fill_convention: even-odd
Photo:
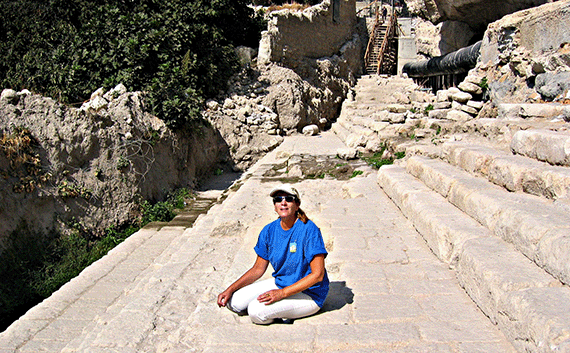
<instances>
[{"instance_id":1,"label":"rough stone wall in upper right corner, right of black pipe","mask_svg":"<svg viewBox=\"0 0 570 353\"><path fill-rule=\"evenodd\" d=\"M557 1L489 25L477 70L495 103L570 99L570 2Z\"/></svg>"}]
</instances>

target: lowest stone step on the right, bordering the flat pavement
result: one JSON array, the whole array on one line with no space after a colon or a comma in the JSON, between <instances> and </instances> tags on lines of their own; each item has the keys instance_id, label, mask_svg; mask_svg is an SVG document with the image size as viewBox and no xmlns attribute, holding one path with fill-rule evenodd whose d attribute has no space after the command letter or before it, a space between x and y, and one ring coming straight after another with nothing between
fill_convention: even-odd
<instances>
[{"instance_id":1,"label":"lowest stone step on the right, bordering the flat pavement","mask_svg":"<svg viewBox=\"0 0 570 353\"><path fill-rule=\"evenodd\" d=\"M378 184L519 351L570 349L570 288L403 167L380 168Z\"/></svg>"}]
</instances>

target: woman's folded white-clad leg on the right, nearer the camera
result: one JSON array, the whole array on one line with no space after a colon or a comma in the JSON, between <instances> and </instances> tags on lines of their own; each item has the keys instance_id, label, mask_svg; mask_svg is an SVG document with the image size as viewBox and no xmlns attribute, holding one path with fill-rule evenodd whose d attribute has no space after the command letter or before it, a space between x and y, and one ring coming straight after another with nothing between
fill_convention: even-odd
<instances>
[{"instance_id":1,"label":"woman's folded white-clad leg on the right, nearer the camera","mask_svg":"<svg viewBox=\"0 0 570 353\"><path fill-rule=\"evenodd\" d=\"M269 305L252 300L247 307L247 313L253 323L266 325L275 319L298 319L313 315L319 309L317 303L310 296L305 293L297 293Z\"/></svg>"}]
</instances>

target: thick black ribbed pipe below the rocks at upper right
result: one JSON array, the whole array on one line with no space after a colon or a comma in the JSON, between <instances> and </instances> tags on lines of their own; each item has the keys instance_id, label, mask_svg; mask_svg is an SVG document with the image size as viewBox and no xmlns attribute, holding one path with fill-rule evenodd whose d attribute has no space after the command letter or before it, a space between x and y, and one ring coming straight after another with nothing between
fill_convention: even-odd
<instances>
[{"instance_id":1,"label":"thick black ribbed pipe below the rocks at upper right","mask_svg":"<svg viewBox=\"0 0 570 353\"><path fill-rule=\"evenodd\" d=\"M480 49L481 41L478 41L446 55L406 63L402 72L408 74L408 77L430 77L467 72L477 64Z\"/></svg>"}]
</instances>

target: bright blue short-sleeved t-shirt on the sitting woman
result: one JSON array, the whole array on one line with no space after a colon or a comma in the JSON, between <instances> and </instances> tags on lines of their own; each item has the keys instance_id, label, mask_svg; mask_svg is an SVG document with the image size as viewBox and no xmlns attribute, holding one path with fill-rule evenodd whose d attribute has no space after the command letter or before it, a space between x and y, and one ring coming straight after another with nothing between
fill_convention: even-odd
<instances>
[{"instance_id":1,"label":"bright blue short-sleeved t-shirt on the sitting woman","mask_svg":"<svg viewBox=\"0 0 570 353\"><path fill-rule=\"evenodd\" d=\"M254 250L273 266L272 275L279 288L290 286L311 273L310 263L315 255L328 254L321 230L311 220L307 224L297 220L291 229L283 230L279 218L261 230ZM322 307L328 291L329 279L325 270L323 280L303 293Z\"/></svg>"}]
</instances>

